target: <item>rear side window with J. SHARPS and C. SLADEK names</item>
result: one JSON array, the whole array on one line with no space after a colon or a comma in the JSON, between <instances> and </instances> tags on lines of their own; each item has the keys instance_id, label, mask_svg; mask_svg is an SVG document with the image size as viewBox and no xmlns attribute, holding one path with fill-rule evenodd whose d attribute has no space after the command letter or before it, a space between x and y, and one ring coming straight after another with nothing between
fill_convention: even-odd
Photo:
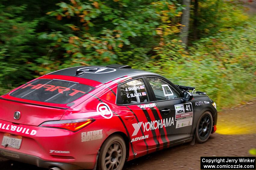
<instances>
[{"instance_id":1,"label":"rear side window with J. SHARPS and C. SLADEK names","mask_svg":"<svg viewBox=\"0 0 256 170\"><path fill-rule=\"evenodd\" d=\"M132 80L118 87L117 104L148 102L148 92L142 79Z\"/></svg>"}]
</instances>

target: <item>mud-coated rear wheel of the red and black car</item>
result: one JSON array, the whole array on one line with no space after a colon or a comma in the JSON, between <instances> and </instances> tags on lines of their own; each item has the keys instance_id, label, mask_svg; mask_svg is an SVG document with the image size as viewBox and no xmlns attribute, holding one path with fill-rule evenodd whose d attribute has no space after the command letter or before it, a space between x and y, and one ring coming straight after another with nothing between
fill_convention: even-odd
<instances>
[{"instance_id":1,"label":"mud-coated rear wheel of the red and black car","mask_svg":"<svg viewBox=\"0 0 256 170\"><path fill-rule=\"evenodd\" d=\"M99 170L122 170L126 146L120 135L110 136L102 145L98 159Z\"/></svg>"}]
</instances>

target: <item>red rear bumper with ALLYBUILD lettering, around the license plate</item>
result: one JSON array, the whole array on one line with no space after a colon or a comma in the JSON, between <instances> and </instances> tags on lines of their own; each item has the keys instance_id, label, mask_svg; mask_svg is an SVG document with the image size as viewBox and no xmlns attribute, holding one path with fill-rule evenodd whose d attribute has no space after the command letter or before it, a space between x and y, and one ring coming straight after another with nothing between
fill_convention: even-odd
<instances>
[{"instance_id":1,"label":"red rear bumper with ALLYBUILD lettering, around the license plate","mask_svg":"<svg viewBox=\"0 0 256 170\"><path fill-rule=\"evenodd\" d=\"M42 168L57 166L63 170L93 169L98 151L106 137L106 133L103 132L103 139L82 141L81 134L95 130L93 126L75 133L57 128L17 125L3 120L0 120L0 126L0 157ZM17 132L17 128L13 129L14 126L23 129ZM25 128L29 129L27 134ZM31 135L32 130L36 131L35 135ZM22 136L20 149L5 148L1 145L5 133Z\"/></svg>"}]
</instances>

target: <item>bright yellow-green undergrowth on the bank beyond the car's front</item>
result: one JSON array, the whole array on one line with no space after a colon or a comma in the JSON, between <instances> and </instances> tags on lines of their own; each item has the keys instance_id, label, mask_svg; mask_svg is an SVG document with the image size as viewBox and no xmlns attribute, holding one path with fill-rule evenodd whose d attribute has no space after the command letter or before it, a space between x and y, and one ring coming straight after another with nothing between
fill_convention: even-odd
<instances>
[{"instance_id":1,"label":"bright yellow-green undergrowth on the bank beyond the car's front","mask_svg":"<svg viewBox=\"0 0 256 170\"><path fill-rule=\"evenodd\" d=\"M254 21L246 22L198 40L188 53L172 40L155 49L150 61L133 66L164 75L175 84L194 86L206 92L218 109L228 108L256 97L255 31Z\"/></svg>"}]
</instances>

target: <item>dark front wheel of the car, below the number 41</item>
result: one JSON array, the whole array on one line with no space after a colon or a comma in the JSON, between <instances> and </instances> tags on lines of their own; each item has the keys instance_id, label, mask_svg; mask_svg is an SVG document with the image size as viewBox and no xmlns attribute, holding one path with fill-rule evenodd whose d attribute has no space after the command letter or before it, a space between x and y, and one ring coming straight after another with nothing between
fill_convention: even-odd
<instances>
[{"instance_id":1,"label":"dark front wheel of the car, below the number 41","mask_svg":"<svg viewBox=\"0 0 256 170\"><path fill-rule=\"evenodd\" d=\"M196 126L196 140L199 143L204 143L208 140L212 130L212 115L209 111L204 112Z\"/></svg>"}]
</instances>

